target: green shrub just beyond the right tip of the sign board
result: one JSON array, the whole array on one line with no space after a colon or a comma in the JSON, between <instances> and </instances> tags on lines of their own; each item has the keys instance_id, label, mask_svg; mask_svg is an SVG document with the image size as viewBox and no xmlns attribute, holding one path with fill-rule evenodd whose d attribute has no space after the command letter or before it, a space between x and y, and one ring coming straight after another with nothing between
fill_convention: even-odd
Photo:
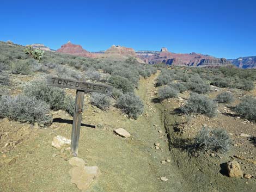
<instances>
[{"instance_id":1,"label":"green shrub just beyond the right tip of the sign board","mask_svg":"<svg viewBox=\"0 0 256 192\"><path fill-rule=\"evenodd\" d=\"M125 77L111 76L108 79L114 88L121 89L123 92L131 92L134 89L134 85Z\"/></svg>"}]
</instances>

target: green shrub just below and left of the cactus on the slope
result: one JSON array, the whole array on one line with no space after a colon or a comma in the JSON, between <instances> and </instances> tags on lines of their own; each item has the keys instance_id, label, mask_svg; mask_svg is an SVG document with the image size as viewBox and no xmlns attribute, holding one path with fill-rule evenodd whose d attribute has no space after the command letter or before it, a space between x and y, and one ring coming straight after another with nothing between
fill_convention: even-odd
<instances>
[{"instance_id":1,"label":"green shrub just below and left of the cactus on the slope","mask_svg":"<svg viewBox=\"0 0 256 192\"><path fill-rule=\"evenodd\" d=\"M11 61L10 69L13 74L29 75L32 72L30 60L15 60Z\"/></svg>"}]
</instances>

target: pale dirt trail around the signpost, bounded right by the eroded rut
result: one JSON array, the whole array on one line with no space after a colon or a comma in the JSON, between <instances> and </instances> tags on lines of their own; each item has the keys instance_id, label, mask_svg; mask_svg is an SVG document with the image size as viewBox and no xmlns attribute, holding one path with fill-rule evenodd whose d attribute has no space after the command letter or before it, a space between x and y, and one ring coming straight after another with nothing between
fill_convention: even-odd
<instances>
[{"instance_id":1,"label":"pale dirt trail around the signpost, bounded right by the eroded rut","mask_svg":"<svg viewBox=\"0 0 256 192\"><path fill-rule=\"evenodd\" d=\"M139 82L136 94L142 98L145 110L138 120L127 118L115 108L103 112L90 106L86 97L82 123L96 128L82 126L78 157L88 166L99 166L102 173L90 192L189 191L170 157L160 104L152 102L158 75L159 72ZM70 138L72 122L68 120L72 118L64 112L55 113L54 117L64 120L36 130L36 137L6 153L7 157L15 157L16 162L1 167L0 191L79 191L70 183L66 162L70 154L51 146L55 135ZM116 128L125 128L132 137L115 135ZM155 143L160 144L159 149ZM161 164L166 159L171 162ZM168 181L161 181L161 177Z\"/></svg>"}]
</instances>

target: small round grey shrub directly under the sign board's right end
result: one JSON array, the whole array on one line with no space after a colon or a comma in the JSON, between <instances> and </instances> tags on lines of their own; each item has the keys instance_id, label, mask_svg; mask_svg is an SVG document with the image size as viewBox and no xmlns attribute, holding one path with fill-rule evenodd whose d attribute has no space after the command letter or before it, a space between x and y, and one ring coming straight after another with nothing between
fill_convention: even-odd
<instances>
[{"instance_id":1,"label":"small round grey shrub directly under the sign board's right end","mask_svg":"<svg viewBox=\"0 0 256 192\"><path fill-rule=\"evenodd\" d=\"M108 95L93 92L90 103L97 108L106 110L111 105L111 98Z\"/></svg>"}]
</instances>

